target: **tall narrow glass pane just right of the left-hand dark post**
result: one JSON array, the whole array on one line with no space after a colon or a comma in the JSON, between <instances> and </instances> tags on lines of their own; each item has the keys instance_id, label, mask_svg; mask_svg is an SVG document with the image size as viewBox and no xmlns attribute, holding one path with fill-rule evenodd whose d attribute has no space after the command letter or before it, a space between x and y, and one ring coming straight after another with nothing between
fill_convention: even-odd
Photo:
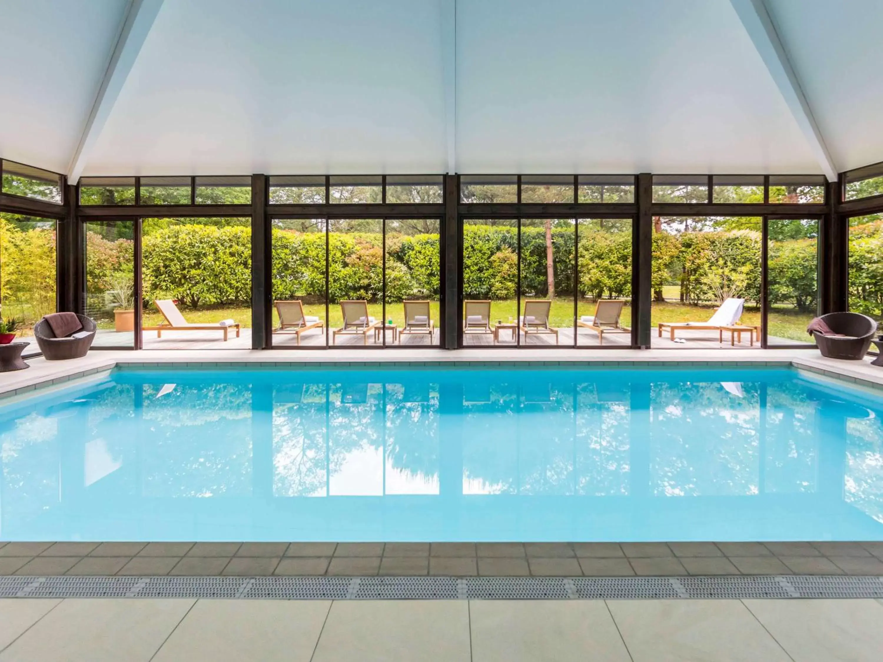
<instances>
[{"instance_id":1,"label":"tall narrow glass pane just right of the left-hand dark post","mask_svg":"<svg viewBox=\"0 0 883 662\"><path fill-rule=\"evenodd\" d=\"M273 347L324 347L325 219L273 221Z\"/></svg>"}]
</instances>

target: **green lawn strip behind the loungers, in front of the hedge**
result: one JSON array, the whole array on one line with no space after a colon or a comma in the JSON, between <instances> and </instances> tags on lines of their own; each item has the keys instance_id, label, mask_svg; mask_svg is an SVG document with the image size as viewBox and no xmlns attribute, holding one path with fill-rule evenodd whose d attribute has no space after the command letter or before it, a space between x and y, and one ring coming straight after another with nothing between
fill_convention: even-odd
<instances>
[{"instance_id":1,"label":"green lawn strip behind the loungers, in front of the hedge","mask_svg":"<svg viewBox=\"0 0 883 662\"><path fill-rule=\"evenodd\" d=\"M675 288L676 290L676 288ZM516 299L508 299L494 301L491 304L491 322L496 323L497 320L508 322L509 318L513 320L517 317L517 301ZM432 318L435 325L439 326L441 318L439 317L439 304L437 301L430 305ZM191 308L181 308L182 314L189 322L205 322L215 323L220 320L233 319L238 321L244 328L252 326L252 312L250 308L245 307L223 307L223 306L206 306L198 310ZM325 306L322 304L305 304L304 312L307 315L315 315L321 320L325 319ZM330 325L332 328L340 327L343 324L343 317L340 312L340 305L333 304L329 307ZM522 312L524 312L524 301L522 302ZM595 312L595 304L592 301L581 300L579 302L578 315L593 315ZM653 302L651 309L651 326L653 328L659 322L683 322L683 321L702 321L710 318L714 313L713 305L683 305L675 302ZM368 314L380 320L382 317L382 306L380 304L368 304ZM573 325L573 299L557 298L552 303L552 311L550 314L550 322L553 327L570 327ZM795 342L812 342L811 338L806 335L806 325L809 324L813 315L811 313L796 312L789 308L775 307L769 315L769 335L780 338L789 338ZM387 305L387 319L392 319L399 327L404 325L404 307L401 303ZM630 326L631 323L631 307L623 306L623 315L621 317L624 326ZM154 312L152 309L144 313L144 326L155 326L162 321L162 315ZM750 326L760 325L760 311L757 308L746 308L742 316L744 324ZM274 327L279 323L275 309L273 311ZM102 328L113 327L112 322L101 325Z\"/></svg>"}]
</instances>

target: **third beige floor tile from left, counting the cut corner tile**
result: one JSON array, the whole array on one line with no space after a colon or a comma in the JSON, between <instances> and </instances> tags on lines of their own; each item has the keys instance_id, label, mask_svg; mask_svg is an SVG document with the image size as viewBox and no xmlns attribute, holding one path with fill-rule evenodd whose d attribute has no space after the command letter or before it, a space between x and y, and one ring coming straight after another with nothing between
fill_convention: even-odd
<instances>
[{"instance_id":1,"label":"third beige floor tile from left, counting the cut corner tile","mask_svg":"<svg viewBox=\"0 0 883 662\"><path fill-rule=\"evenodd\" d=\"M155 662L308 662L331 603L326 600L200 600Z\"/></svg>"}]
</instances>

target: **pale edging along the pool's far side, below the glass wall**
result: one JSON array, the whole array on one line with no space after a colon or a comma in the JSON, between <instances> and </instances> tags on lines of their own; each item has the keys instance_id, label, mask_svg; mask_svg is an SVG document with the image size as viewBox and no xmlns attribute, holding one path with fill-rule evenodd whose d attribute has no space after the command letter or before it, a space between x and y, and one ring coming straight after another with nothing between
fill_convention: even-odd
<instances>
[{"instance_id":1,"label":"pale edging along the pool's far side, below the glass wall","mask_svg":"<svg viewBox=\"0 0 883 662\"><path fill-rule=\"evenodd\" d=\"M73 361L49 362L45 359L33 359L37 370L23 370L20 372L4 373L3 383L0 383L0 401L5 398L18 395L26 395L36 390L48 387L64 385L72 380L91 377L102 372L115 369L181 369L181 368L237 368L244 364L257 369L278 368L381 368L381 367L469 367L469 366L493 366L493 367L570 367L570 368L598 368L598 367L628 367L628 368L653 368L653 367L676 367L690 365L695 367L794 367L798 370L815 372L826 377L834 378L859 386L874 389L883 388L883 369L871 365L872 357L865 357L861 361L843 361L821 357L815 352L807 350L764 350L764 355L757 357L759 350L754 350L746 356L746 352L740 350L718 350L718 356L710 352L683 350L677 360L672 360L674 350L609 350L596 351L593 356L585 356L587 352L568 352L567 357L558 357L552 360L546 357L537 357L538 352L524 351L525 356L494 357L495 360L483 359L475 356L475 352L464 350L442 351L429 356L423 353L417 355L411 352L411 357L402 352L392 352L385 357L365 357L364 355L335 357L314 356L304 357L301 352L298 356L291 356L293 352L273 352L270 350L199 350L187 352L187 357L181 357L185 350L162 352L162 357L156 356L158 351L140 352L92 352L87 357ZM720 356L726 352L727 356ZM514 352L512 352L514 354ZM543 352L548 354L548 352ZM620 355L616 360L611 360L611 354ZM107 356L101 356L101 355ZM235 354L235 356L230 356ZM268 356L268 355L275 356ZM279 356L282 354L283 356ZM226 360L220 360L220 359ZM273 360L267 360L272 358ZM162 359L162 360L157 360ZM325 359L325 360L323 360ZM502 360L501 360L502 359Z\"/></svg>"}]
</instances>

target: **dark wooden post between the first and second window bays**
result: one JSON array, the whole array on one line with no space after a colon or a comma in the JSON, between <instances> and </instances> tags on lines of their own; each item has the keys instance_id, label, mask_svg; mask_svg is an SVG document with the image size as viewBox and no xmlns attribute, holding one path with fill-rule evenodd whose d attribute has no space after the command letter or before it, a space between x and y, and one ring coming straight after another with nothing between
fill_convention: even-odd
<instances>
[{"instance_id":1,"label":"dark wooden post between the first and second window bays","mask_svg":"<svg viewBox=\"0 0 883 662\"><path fill-rule=\"evenodd\" d=\"M267 177L252 175L252 349L270 346L273 296L267 216Z\"/></svg>"}]
</instances>

